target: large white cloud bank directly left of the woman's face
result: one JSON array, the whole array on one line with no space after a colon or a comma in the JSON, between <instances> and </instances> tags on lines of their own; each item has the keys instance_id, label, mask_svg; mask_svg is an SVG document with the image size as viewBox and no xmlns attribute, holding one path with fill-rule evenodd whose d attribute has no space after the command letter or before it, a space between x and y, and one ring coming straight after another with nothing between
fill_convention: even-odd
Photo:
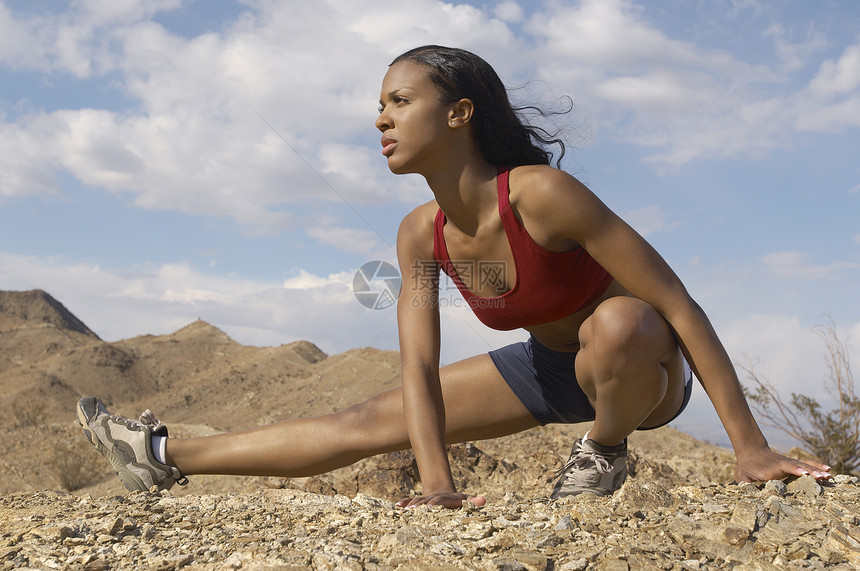
<instances>
[{"instance_id":1,"label":"large white cloud bank directly left of the woman's face","mask_svg":"<svg viewBox=\"0 0 860 571\"><path fill-rule=\"evenodd\" d=\"M414 202L422 194L414 182L394 180L378 152L375 100L397 52L388 39L369 35L379 22L362 12L367 6L259 3L259 12L223 32L184 39L138 21L175 3L126 2L95 21L99 5L81 4L74 18L58 20L74 36L70 46L83 45L75 38L104 21L124 22L99 34L131 107L54 110L0 123L3 195L57 192L67 171L143 208L226 216L253 232L276 233L295 224L289 205L296 201ZM421 21L428 41L436 27L465 29L485 19L470 6L431 0L416 10L386 14L401 24ZM491 24L487 38L493 30L504 27ZM417 39L408 34L402 43ZM53 41L41 43L53 49ZM63 65L72 73L105 69L93 68L92 51L68 57L75 62Z\"/></svg>"}]
</instances>

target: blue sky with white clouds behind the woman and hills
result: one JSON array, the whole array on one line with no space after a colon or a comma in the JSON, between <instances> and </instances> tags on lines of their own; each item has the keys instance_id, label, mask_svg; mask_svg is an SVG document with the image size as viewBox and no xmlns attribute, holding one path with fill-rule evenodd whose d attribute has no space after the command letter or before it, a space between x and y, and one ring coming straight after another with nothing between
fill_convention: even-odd
<instances>
[{"instance_id":1,"label":"blue sky with white clouds behind the woman and hills","mask_svg":"<svg viewBox=\"0 0 860 571\"><path fill-rule=\"evenodd\" d=\"M732 358L819 394L860 360L860 3L0 1L0 289L103 339L397 347L352 294L430 198L373 127L397 54L487 59L553 107L564 167L657 247ZM522 333L446 294L443 361ZM855 366L856 368L856 366ZM680 428L720 439L701 391Z\"/></svg>"}]
</instances>

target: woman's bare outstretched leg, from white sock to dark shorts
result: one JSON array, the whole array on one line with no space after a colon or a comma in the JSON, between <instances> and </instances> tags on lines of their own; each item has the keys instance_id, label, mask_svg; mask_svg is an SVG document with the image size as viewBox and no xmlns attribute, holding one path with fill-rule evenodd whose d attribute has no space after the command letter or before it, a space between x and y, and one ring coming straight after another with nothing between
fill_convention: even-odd
<instances>
[{"instance_id":1,"label":"woman's bare outstretched leg, from white sock to dark shorts","mask_svg":"<svg viewBox=\"0 0 860 571\"><path fill-rule=\"evenodd\" d=\"M494 438L538 425L489 355L443 367L446 438ZM401 389L340 412L203 438L168 439L167 460L185 474L300 477L410 446Z\"/></svg>"}]
</instances>

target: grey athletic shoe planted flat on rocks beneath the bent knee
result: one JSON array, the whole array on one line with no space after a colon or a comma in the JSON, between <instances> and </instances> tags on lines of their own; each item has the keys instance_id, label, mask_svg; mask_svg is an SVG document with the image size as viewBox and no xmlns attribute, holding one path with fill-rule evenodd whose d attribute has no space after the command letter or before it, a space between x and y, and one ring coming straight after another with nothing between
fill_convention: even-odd
<instances>
[{"instance_id":1,"label":"grey athletic shoe planted flat on rocks beneath the bent knee","mask_svg":"<svg viewBox=\"0 0 860 571\"><path fill-rule=\"evenodd\" d=\"M617 446L603 446L586 433L573 443L570 458L557 476L554 500L582 493L608 496L627 479L627 439Z\"/></svg>"}]
</instances>

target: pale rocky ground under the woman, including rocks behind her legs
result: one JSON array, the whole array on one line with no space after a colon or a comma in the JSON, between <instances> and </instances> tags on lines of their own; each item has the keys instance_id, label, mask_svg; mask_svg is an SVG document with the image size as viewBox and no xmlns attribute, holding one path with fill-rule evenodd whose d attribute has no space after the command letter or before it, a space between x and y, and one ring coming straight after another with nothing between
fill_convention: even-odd
<instances>
[{"instance_id":1,"label":"pale rocky ground under the woman, including rocks behind her legs","mask_svg":"<svg viewBox=\"0 0 860 571\"><path fill-rule=\"evenodd\" d=\"M856 477L726 483L728 451L666 427L631 436L631 476L612 497L550 501L556 451L570 438L554 426L452 447L458 482L489 500L463 510L394 507L420 489L406 452L313 478L196 476L171 492L128 494L85 450L104 481L0 496L0 566L860 568Z\"/></svg>"}]
</instances>

